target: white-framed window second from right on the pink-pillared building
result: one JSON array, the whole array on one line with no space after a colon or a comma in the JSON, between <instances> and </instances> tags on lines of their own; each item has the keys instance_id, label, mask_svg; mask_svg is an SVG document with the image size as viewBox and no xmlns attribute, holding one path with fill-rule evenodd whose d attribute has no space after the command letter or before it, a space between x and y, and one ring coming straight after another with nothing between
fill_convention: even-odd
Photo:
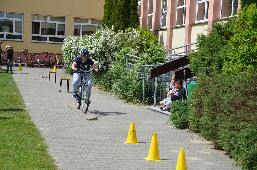
<instances>
[{"instance_id":1,"label":"white-framed window second from right on the pink-pillared building","mask_svg":"<svg viewBox=\"0 0 257 170\"><path fill-rule=\"evenodd\" d=\"M198 0L196 6L196 22L208 20L209 0Z\"/></svg>"}]
</instances>

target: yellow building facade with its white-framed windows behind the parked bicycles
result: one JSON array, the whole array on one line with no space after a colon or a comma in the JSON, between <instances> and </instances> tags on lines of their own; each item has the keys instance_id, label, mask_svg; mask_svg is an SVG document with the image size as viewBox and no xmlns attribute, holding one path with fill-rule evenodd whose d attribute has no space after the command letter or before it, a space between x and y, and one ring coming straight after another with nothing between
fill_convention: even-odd
<instances>
[{"instance_id":1,"label":"yellow building facade with its white-framed windows behind the parked bicycles","mask_svg":"<svg viewBox=\"0 0 257 170\"><path fill-rule=\"evenodd\" d=\"M104 0L13 0L0 6L2 49L10 44L15 52L62 53L63 40L93 33L103 18ZM41 55L42 56L42 55Z\"/></svg>"}]
</instances>

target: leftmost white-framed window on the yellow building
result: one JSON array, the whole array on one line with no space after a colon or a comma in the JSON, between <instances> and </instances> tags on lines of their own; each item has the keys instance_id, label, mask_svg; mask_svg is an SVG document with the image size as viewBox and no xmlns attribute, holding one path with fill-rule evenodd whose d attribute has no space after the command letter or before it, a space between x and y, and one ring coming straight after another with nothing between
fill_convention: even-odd
<instances>
[{"instance_id":1,"label":"leftmost white-framed window on the yellow building","mask_svg":"<svg viewBox=\"0 0 257 170\"><path fill-rule=\"evenodd\" d=\"M23 14L0 12L0 39L23 41Z\"/></svg>"}]
</instances>

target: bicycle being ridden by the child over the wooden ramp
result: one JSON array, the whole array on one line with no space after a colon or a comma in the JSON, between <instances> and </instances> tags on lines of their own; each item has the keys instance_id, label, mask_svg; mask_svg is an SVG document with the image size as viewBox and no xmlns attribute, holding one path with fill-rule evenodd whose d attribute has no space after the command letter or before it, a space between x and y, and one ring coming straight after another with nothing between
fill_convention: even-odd
<instances>
[{"instance_id":1,"label":"bicycle being ridden by the child over the wooden ramp","mask_svg":"<svg viewBox=\"0 0 257 170\"><path fill-rule=\"evenodd\" d=\"M85 77L83 79L83 77L81 77L81 80L79 82L79 87L78 87L78 91L76 94L76 103L77 103L77 109L80 109L80 105L82 108L82 112L86 113L88 110L88 105L89 105L89 88L88 85L86 83L86 76L90 76L90 72L95 72L95 70L80 70L78 69L78 71L82 71L85 73ZM81 103L82 101L82 103Z\"/></svg>"}]
</instances>

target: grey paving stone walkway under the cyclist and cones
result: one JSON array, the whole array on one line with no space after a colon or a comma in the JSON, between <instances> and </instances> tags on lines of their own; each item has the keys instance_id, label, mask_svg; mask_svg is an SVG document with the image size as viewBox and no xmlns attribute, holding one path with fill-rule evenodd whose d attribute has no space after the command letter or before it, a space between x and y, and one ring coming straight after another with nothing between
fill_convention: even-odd
<instances>
[{"instance_id":1,"label":"grey paving stone walkway under the cyclist and cones","mask_svg":"<svg viewBox=\"0 0 257 170\"><path fill-rule=\"evenodd\" d=\"M2 66L5 69L5 66ZM87 120L66 106L72 98L72 77L57 69L13 67L13 77L26 107L56 159L59 169L175 169L180 148L185 148L187 169L232 169L233 160L216 150L209 141L167 123L168 115L130 105L93 87L89 111L98 120ZM59 92L59 78L70 78ZM137 141L125 144L130 123L135 123ZM163 161L146 161L156 132ZM234 168L240 169L240 168Z\"/></svg>"}]
</instances>

